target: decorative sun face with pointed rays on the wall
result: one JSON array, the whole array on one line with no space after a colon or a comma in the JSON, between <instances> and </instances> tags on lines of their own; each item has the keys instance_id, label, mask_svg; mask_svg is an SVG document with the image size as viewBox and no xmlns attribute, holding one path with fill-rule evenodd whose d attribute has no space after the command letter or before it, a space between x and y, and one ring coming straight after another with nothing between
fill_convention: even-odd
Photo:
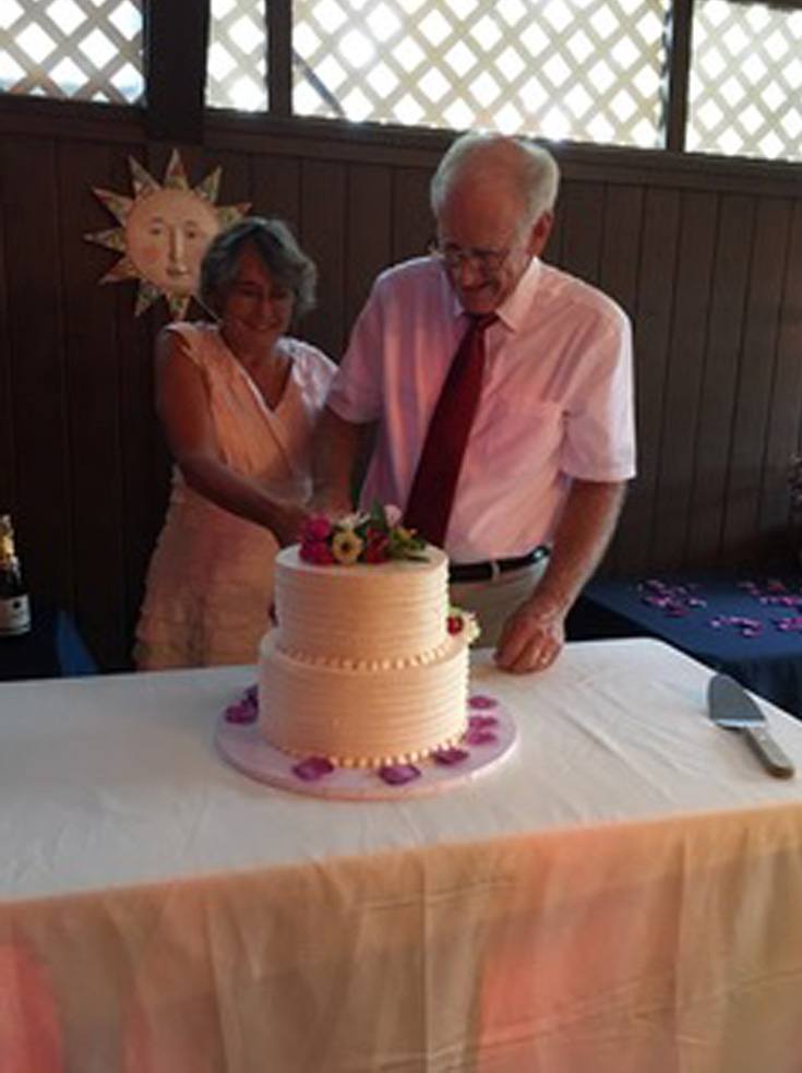
<instances>
[{"instance_id":1,"label":"decorative sun face with pointed rays on the wall","mask_svg":"<svg viewBox=\"0 0 802 1073\"><path fill-rule=\"evenodd\" d=\"M121 226L84 238L122 254L100 283L139 279L136 317L164 295L170 315L180 320L197 294L206 247L222 227L243 216L250 205L215 205L219 168L190 189L178 150L170 154L164 183L133 157L128 162L133 198L94 188Z\"/></svg>"}]
</instances>

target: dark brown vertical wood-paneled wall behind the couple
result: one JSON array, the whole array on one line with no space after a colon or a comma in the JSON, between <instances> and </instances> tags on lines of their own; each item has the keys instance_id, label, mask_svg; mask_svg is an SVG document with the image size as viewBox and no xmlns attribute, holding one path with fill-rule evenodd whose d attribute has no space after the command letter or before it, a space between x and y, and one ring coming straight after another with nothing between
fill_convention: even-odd
<instances>
[{"instance_id":1,"label":"dark brown vertical wood-paneled wall behind the couple","mask_svg":"<svg viewBox=\"0 0 802 1073\"><path fill-rule=\"evenodd\" d=\"M129 153L160 180L172 146L133 111L107 115L0 111L0 503L33 591L73 609L117 669L168 489L152 359L166 311L134 318L134 284L99 287L116 254L82 236L112 223L92 187L130 194ZM290 224L320 272L300 332L338 358L376 273L432 237L447 139L326 130L215 117L204 145L180 148L192 184L223 167L220 204ZM639 470L605 569L767 561L802 445L800 169L559 155L547 260L601 286L635 329Z\"/></svg>"}]
</instances>

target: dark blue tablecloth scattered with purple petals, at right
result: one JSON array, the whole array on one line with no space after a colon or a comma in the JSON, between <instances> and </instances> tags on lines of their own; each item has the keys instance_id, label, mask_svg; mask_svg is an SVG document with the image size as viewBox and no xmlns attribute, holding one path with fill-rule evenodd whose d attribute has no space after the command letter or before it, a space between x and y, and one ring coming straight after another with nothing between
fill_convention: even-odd
<instances>
[{"instance_id":1,"label":"dark blue tablecloth scattered with purple petals, at right","mask_svg":"<svg viewBox=\"0 0 802 1073\"><path fill-rule=\"evenodd\" d=\"M654 636L802 717L802 574L599 579L568 621L572 640Z\"/></svg>"}]
</instances>

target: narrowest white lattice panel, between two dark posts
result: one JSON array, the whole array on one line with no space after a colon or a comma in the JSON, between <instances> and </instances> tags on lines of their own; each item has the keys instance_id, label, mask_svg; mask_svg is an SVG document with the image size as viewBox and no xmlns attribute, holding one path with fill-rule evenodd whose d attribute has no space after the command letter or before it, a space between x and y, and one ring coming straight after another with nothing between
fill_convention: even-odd
<instances>
[{"instance_id":1,"label":"narrowest white lattice panel, between two dark posts","mask_svg":"<svg viewBox=\"0 0 802 1073\"><path fill-rule=\"evenodd\" d=\"M206 104L266 111L267 0L212 0Z\"/></svg>"}]
</instances>

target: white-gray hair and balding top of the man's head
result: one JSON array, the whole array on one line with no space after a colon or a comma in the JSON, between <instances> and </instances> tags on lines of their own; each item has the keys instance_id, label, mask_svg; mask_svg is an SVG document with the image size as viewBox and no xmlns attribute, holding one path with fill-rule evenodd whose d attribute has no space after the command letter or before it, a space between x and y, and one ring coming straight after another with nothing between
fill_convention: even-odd
<instances>
[{"instance_id":1,"label":"white-gray hair and balding top of the man's head","mask_svg":"<svg viewBox=\"0 0 802 1073\"><path fill-rule=\"evenodd\" d=\"M463 134L441 159L431 181L430 199L436 216L452 187L462 179L495 179L520 196L528 223L551 211L560 186L560 168L541 145L504 134Z\"/></svg>"}]
</instances>

